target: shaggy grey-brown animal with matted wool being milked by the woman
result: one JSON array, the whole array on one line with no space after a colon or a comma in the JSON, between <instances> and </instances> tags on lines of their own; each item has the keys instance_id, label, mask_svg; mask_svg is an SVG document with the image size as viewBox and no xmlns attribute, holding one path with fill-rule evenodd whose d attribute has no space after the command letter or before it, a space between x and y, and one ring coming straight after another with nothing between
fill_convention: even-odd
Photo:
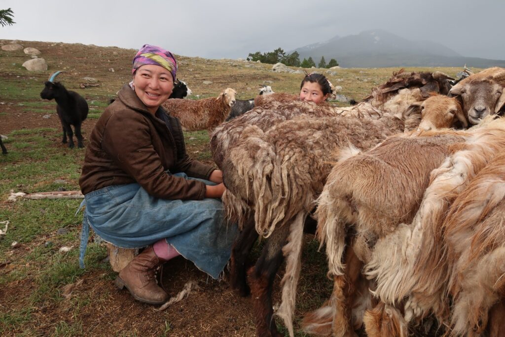
<instances>
[{"instance_id":1,"label":"shaggy grey-brown animal with matted wool being milked by the woman","mask_svg":"<svg viewBox=\"0 0 505 337\"><path fill-rule=\"evenodd\" d=\"M256 266L248 271L258 335L276 333L275 326L270 324L272 304L267 294L282 262L282 253L287 257L287 265L277 314L290 335L293 333L292 312L304 219L314 207L313 201L323 188L331 162L342 155L340 147L353 144L359 149L368 149L386 136L402 131L403 122L396 117L315 119L307 115L277 124L267 132L256 126L243 131L241 141L230 150L229 160L224 161L224 182L232 193L238 189L238 194L244 194L249 189L256 232L272 237L269 242L278 243L271 249L267 246ZM244 191L242 184L249 187ZM226 198L223 204L225 209L236 206L228 204ZM282 248L286 241L289 243ZM264 290L266 285L269 291Z\"/></svg>"}]
</instances>

